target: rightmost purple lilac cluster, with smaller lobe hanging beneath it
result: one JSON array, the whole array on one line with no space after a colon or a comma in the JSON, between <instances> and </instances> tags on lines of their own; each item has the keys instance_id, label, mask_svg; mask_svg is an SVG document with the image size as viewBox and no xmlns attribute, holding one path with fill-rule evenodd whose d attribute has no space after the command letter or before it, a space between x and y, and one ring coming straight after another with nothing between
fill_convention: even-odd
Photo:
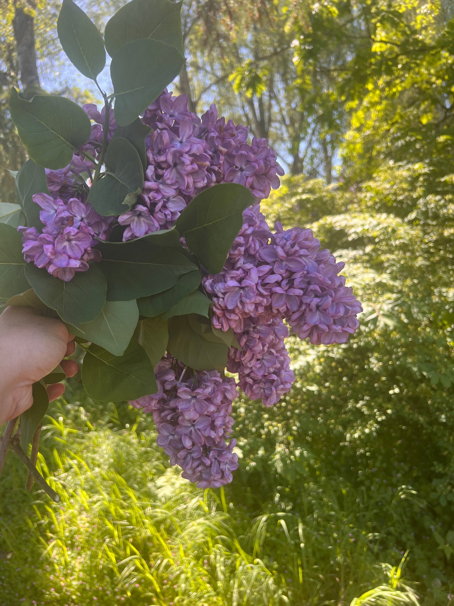
<instances>
[{"instance_id":1,"label":"rightmost purple lilac cluster, with smaller lobe hanging beneath it","mask_svg":"<svg viewBox=\"0 0 454 606\"><path fill-rule=\"evenodd\" d=\"M227 368L239 385L267 406L289 391L294 375L283 339L286 319L297 335L314 344L344 343L358 328L361 304L345 286L344 267L312 230L295 227L272 233L260 207L243 213L243 228L222 273L207 276L215 328L232 328L242 350L231 350Z\"/></svg>"}]
</instances>

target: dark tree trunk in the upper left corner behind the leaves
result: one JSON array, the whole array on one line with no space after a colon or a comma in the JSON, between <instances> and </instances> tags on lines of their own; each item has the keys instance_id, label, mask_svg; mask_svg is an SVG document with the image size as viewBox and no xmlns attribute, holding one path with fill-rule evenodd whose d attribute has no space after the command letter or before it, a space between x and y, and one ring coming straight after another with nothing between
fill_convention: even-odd
<instances>
[{"instance_id":1,"label":"dark tree trunk in the upper left corner behind the leaves","mask_svg":"<svg viewBox=\"0 0 454 606\"><path fill-rule=\"evenodd\" d=\"M36 65L33 17L27 15L23 8L16 8L15 18L13 19L13 31L18 51L22 89L24 96L30 99L39 92L40 85L38 66Z\"/></svg>"}]
</instances>

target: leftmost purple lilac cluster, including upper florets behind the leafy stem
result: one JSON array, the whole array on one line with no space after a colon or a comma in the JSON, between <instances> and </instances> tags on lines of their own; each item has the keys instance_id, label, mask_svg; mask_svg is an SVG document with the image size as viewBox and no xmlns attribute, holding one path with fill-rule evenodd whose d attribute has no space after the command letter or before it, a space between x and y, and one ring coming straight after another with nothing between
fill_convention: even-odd
<instances>
[{"instance_id":1,"label":"leftmost purple lilac cluster, including upper florets behind the leafy stem","mask_svg":"<svg viewBox=\"0 0 454 606\"><path fill-rule=\"evenodd\" d=\"M87 202L81 175L94 168L82 151L97 158L104 136L105 110L98 112L96 105L84 105L87 115L94 120L90 140L61 170L46 170L50 195L37 193L33 202L41 207L39 219L44 227L19 227L22 233L22 252L25 261L45 267L56 278L65 282L74 278L76 271L87 271L90 261L100 261L100 252L94 248L96 238L107 240L114 217L102 217ZM113 110L110 112L108 140L113 136L116 124Z\"/></svg>"}]
</instances>

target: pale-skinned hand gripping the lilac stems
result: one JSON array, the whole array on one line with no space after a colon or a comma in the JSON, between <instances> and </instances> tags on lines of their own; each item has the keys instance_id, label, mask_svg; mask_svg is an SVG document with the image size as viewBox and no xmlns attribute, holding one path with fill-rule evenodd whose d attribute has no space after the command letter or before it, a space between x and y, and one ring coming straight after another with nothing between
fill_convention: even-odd
<instances>
[{"instance_id":1,"label":"pale-skinned hand gripping the lilac stems","mask_svg":"<svg viewBox=\"0 0 454 606\"><path fill-rule=\"evenodd\" d=\"M60 320L39 316L30 307L7 307L0 315L0 425L16 418L33 403L31 387L59 364L67 377L79 369L73 360L73 335ZM49 385L49 400L65 391Z\"/></svg>"}]
</instances>

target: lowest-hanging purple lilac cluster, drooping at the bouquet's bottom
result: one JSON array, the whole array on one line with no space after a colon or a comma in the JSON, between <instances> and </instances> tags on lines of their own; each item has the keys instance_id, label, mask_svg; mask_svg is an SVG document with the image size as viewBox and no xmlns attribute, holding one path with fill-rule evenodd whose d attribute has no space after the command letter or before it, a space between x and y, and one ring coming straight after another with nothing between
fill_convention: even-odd
<instances>
[{"instance_id":1,"label":"lowest-hanging purple lilac cluster, drooping at the bouquet's bottom","mask_svg":"<svg viewBox=\"0 0 454 606\"><path fill-rule=\"evenodd\" d=\"M232 481L238 456L232 449L232 401L238 391L234 379L222 379L217 370L188 373L166 355L155 370L158 391L130 402L145 412L153 411L157 444L180 465L183 478L199 488L220 487Z\"/></svg>"}]
</instances>

